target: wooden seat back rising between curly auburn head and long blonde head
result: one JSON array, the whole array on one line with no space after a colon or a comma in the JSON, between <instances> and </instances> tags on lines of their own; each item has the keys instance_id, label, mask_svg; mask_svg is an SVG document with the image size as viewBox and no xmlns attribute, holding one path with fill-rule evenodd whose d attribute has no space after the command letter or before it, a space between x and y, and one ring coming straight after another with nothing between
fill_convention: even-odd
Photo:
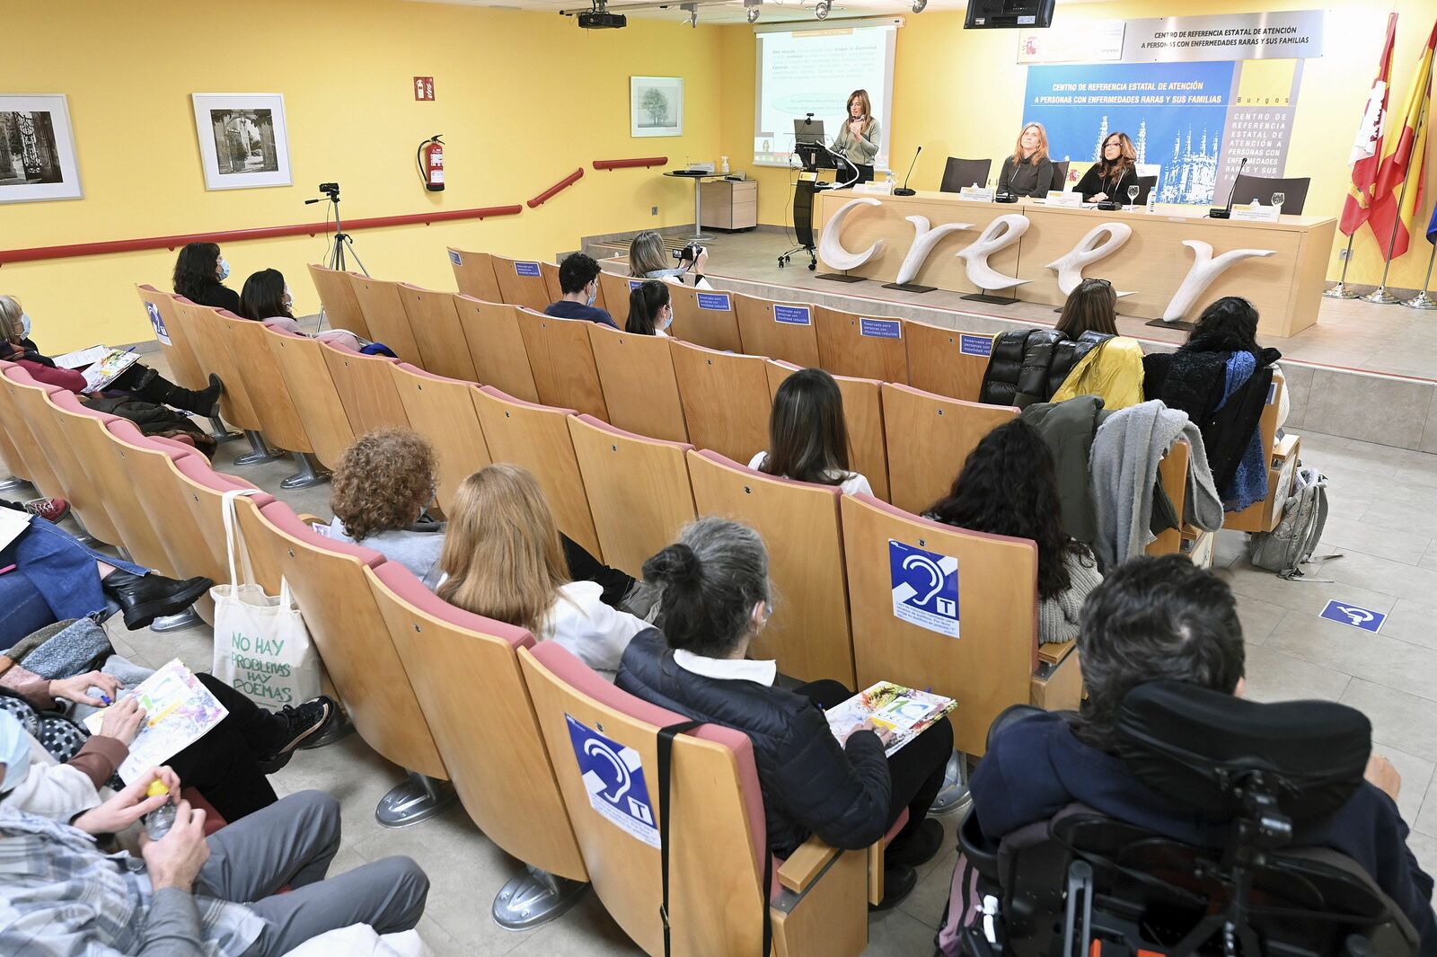
<instances>
[{"instance_id":1,"label":"wooden seat back rising between curly auburn head and long blonde head","mask_svg":"<svg viewBox=\"0 0 1437 957\"><path fill-rule=\"evenodd\" d=\"M484 428L470 397L479 387L425 372L408 362L391 365L389 372L410 428L434 445L438 503L448 512L460 483L491 461Z\"/></svg>"}]
</instances>

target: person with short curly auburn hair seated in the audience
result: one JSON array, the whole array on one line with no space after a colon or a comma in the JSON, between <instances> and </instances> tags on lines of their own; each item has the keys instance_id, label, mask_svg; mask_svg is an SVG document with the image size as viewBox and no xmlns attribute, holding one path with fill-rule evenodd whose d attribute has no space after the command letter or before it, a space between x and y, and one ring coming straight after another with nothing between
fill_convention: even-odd
<instances>
[{"instance_id":1,"label":"person with short curly auburn hair seated in the audience","mask_svg":"<svg viewBox=\"0 0 1437 957\"><path fill-rule=\"evenodd\" d=\"M335 467L329 537L374 549L434 589L444 526L421 522L434 499L434 447L408 428L379 428L356 438Z\"/></svg>"}]
</instances>

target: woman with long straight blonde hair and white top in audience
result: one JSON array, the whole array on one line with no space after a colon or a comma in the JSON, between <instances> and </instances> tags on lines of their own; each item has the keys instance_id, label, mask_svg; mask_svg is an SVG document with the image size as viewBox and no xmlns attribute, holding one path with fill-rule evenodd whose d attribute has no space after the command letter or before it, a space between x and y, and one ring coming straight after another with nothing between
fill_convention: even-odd
<instances>
[{"instance_id":1,"label":"woman with long straight blonde hair and white top in audience","mask_svg":"<svg viewBox=\"0 0 1437 957\"><path fill-rule=\"evenodd\" d=\"M648 628L605 605L598 582L570 581L543 490L519 466L486 466L460 484L440 566L440 598L558 641L609 681Z\"/></svg>"}]
</instances>

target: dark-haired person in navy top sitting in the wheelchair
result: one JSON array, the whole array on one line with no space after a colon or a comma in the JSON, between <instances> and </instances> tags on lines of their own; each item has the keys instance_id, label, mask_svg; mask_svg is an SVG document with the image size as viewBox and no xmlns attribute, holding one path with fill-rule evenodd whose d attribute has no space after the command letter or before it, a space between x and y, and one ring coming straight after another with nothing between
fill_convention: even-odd
<instances>
[{"instance_id":1,"label":"dark-haired person in navy top sitting in the wheelchair","mask_svg":"<svg viewBox=\"0 0 1437 957\"><path fill-rule=\"evenodd\" d=\"M973 812L997 843L1071 803L1187 843L1223 846L1226 820L1197 820L1151 790L1117 756L1124 695L1147 681L1186 681L1242 695L1246 648L1237 602L1226 582L1181 555L1119 565L1088 595L1078 635L1088 697L1076 714L1039 713L1004 727L973 775ZM1352 858L1392 898L1437 954L1433 879L1407 849L1397 809L1401 779L1372 754L1367 780L1326 820L1299 828L1298 846Z\"/></svg>"}]
</instances>

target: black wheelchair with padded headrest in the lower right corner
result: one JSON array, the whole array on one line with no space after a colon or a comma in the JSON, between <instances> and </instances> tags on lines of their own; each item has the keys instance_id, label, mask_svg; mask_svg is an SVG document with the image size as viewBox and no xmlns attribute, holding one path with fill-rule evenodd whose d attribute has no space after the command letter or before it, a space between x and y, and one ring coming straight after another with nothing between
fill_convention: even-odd
<instances>
[{"instance_id":1,"label":"black wheelchair with padded headrest in the lower right corner","mask_svg":"<svg viewBox=\"0 0 1437 957\"><path fill-rule=\"evenodd\" d=\"M1417 931L1367 871L1293 843L1362 785L1371 726L1359 711L1155 681L1124 698L1118 737L1142 785L1226 838L1197 846L1069 805L994 848L970 813L958 848L999 907L996 943L980 921L961 933L966 953L1187 957L1226 941L1244 957L1417 954Z\"/></svg>"}]
</instances>

